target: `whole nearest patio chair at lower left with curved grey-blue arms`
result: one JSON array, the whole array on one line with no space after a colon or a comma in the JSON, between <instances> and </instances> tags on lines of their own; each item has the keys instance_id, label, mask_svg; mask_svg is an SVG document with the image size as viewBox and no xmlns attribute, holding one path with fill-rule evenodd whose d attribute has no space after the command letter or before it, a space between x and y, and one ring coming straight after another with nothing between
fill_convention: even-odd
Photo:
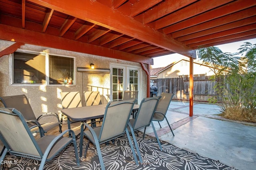
<instances>
[{"instance_id":1,"label":"whole nearest patio chair at lower left with curved grey-blue arms","mask_svg":"<svg viewBox=\"0 0 256 170\"><path fill-rule=\"evenodd\" d=\"M4 160L7 152L9 152L15 156L40 160L39 170L43 170L45 162L52 160L68 144L73 143L76 164L80 165L74 131L65 130L58 136L44 136L43 128L36 125L43 134L41 138L36 140L23 115L18 110L0 108L0 120L0 139L5 146L0 162ZM67 132L71 132L72 137L64 137L63 135Z\"/></svg>"}]
</instances>

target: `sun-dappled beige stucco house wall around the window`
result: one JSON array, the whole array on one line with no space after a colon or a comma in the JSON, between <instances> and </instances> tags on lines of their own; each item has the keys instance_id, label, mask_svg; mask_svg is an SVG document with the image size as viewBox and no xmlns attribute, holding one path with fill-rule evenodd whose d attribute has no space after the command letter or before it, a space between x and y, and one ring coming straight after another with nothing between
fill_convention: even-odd
<instances>
[{"instance_id":1,"label":"sun-dappled beige stucco house wall around the window","mask_svg":"<svg viewBox=\"0 0 256 170\"><path fill-rule=\"evenodd\" d=\"M12 45L13 42L0 40L0 50ZM36 45L22 45L20 49L30 51L47 51L57 55L73 56L76 58L76 67L90 67L90 63L98 68L109 68L110 63L120 63L125 65L140 66L140 63L100 57L85 53L52 49ZM84 102L83 91L100 91L101 95L108 97L110 95L110 74L109 73L86 73L75 71L76 85L11 85L10 81L10 55L0 57L0 96L25 94L30 100L32 109L38 117L42 113L56 112L60 113L61 91L79 91L82 102ZM146 73L142 70L142 97L146 97Z\"/></svg>"}]
</instances>

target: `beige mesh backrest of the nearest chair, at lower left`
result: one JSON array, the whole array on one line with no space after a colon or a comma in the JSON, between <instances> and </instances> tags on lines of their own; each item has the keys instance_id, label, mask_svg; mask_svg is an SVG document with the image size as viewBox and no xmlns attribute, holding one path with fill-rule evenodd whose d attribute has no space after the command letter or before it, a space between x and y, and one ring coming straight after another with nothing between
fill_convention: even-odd
<instances>
[{"instance_id":1,"label":"beige mesh backrest of the nearest chair, at lower left","mask_svg":"<svg viewBox=\"0 0 256 170\"><path fill-rule=\"evenodd\" d=\"M42 158L42 151L18 110L0 108L0 120L0 138L10 154Z\"/></svg>"}]
</instances>

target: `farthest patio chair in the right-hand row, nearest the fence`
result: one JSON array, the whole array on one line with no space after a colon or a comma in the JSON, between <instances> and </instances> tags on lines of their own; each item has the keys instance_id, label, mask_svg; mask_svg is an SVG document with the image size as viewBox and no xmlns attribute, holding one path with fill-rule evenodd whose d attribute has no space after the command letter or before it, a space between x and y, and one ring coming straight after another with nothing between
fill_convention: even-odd
<instances>
[{"instance_id":1,"label":"farthest patio chair in the right-hand row, nearest the fence","mask_svg":"<svg viewBox=\"0 0 256 170\"><path fill-rule=\"evenodd\" d=\"M170 129L171 129L171 131L172 131L172 128L171 128L171 126L170 126L170 124L169 124L165 115L168 111L168 107L169 107L169 105L172 101L172 97L174 96L174 94L173 93L162 93L161 96L162 97L159 100L159 103L156 107L156 112L154 114L154 117L153 117L152 121L158 121L158 124L159 124L160 128L162 128L161 125L160 125L160 122L163 121L164 118L165 118L169 127L170 127ZM172 135L174 136L173 131L172 131Z\"/></svg>"}]
</instances>

